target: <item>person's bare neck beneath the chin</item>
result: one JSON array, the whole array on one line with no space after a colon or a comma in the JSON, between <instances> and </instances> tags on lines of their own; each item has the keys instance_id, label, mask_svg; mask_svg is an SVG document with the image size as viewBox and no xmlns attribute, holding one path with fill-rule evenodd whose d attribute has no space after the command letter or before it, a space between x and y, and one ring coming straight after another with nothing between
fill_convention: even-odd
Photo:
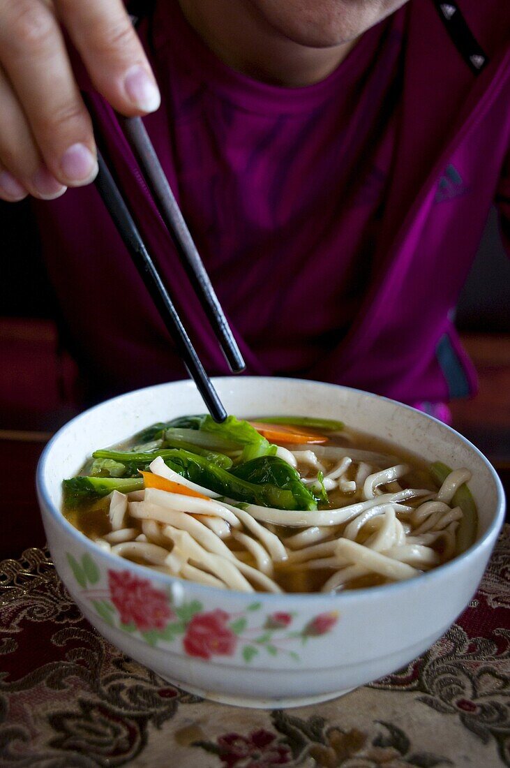
<instances>
[{"instance_id":1,"label":"person's bare neck beneath the chin","mask_svg":"<svg viewBox=\"0 0 510 768\"><path fill-rule=\"evenodd\" d=\"M255 80L300 88L317 83L356 41L310 48L275 30L248 0L179 0L189 25L219 59Z\"/></svg>"}]
</instances>

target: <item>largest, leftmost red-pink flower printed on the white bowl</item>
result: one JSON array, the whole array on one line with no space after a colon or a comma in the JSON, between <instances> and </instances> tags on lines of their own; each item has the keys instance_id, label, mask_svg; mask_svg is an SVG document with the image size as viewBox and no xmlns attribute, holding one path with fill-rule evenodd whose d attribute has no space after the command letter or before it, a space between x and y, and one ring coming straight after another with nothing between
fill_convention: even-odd
<instances>
[{"instance_id":1,"label":"largest, leftmost red-pink flower printed on the white bowl","mask_svg":"<svg viewBox=\"0 0 510 768\"><path fill-rule=\"evenodd\" d=\"M173 618L166 594L130 571L108 571L108 586L123 624L135 624L140 631L164 629Z\"/></svg>"}]
</instances>

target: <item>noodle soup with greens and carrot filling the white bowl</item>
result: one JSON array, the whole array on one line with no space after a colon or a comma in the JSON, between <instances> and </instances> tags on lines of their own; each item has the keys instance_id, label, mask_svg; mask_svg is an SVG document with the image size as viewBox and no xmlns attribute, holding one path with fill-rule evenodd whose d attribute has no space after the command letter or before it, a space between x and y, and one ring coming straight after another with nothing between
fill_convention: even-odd
<instances>
[{"instance_id":1,"label":"noodle soup with greens and carrot filling the white bowl","mask_svg":"<svg viewBox=\"0 0 510 768\"><path fill-rule=\"evenodd\" d=\"M63 511L101 547L189 581L337 592L469 547L470 478L329 419L191 415L94 452L64 481Z\"/></svg>"}]
</instances>

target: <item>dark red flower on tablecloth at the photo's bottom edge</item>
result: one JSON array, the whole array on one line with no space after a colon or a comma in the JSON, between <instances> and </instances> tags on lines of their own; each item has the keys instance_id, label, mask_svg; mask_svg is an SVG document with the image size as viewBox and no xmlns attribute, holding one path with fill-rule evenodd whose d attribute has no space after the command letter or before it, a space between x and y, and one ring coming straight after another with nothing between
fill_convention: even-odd
<instances>
[{"instance_id":1,"label":"dark red flower on tablecloth at the photo's bottom edge","mask_svg":"<svg viewBox=\"0 0 510 768\"><path fill-rule=\"evenodd\" d=\"M291 761L291 750L279 743L275 733L254 730L248 737L239 733L225 733L218 737L219 756L225 768L268 768L287 765Z\"/></svg>"}]
</instances>

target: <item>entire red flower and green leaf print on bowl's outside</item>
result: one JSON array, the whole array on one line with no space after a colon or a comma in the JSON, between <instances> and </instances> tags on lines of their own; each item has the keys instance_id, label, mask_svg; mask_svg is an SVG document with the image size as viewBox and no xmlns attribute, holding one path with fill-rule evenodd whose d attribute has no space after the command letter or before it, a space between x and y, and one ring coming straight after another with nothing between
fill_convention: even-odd
<instances>
[{"instance_id":1,"label":"entire red flower and green leaf print on bowl's outside","mask_svg":"<svg viewBox=\"0 0 510 768\"><path fill-rule=\"evenodd\" d=\"M204 660L231 657L240 650L248 664L265 650L270 656L286 655L299 662L296 647L327 634L338 621L338 612L330 611L301 622L298 628L297 612L275 611L262 618L259 601L235 614L219 607L204 611L198 600L177 607L170 595L155 588L149 579L127 570L108 569L107 587L95 587L100 581L100 569L88 553L78 562L67 552L67 562L81 587L81 598L111 627L138 634L154 647L180 640L185 654Z\"/></svg>"}]
</instances>

